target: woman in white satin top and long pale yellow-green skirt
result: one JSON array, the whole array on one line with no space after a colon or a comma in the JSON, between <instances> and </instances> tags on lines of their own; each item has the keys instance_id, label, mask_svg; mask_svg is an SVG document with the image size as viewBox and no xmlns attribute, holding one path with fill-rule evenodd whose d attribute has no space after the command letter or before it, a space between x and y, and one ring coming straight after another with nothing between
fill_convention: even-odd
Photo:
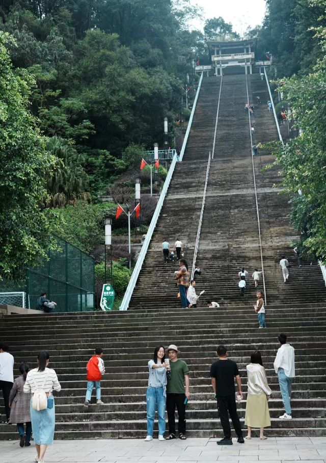
<instances>
[{"instance_id":1,"label":"woman in white satin top and long pale yellow-green skirt","mask_svg":"<svg viewBox=\"0 0 326 463\"><path fill-rule=\"evenodd\" d=\"M267 400L271 390L267 384L266 372L259 350L252 353L250 364L247 365L247 405L244 424L248 426L246 439L251 439L251 429L260 429L260 439L267 439L264 436L264 428L270 426L270 417Z\"/></svg>"}]
</instances>

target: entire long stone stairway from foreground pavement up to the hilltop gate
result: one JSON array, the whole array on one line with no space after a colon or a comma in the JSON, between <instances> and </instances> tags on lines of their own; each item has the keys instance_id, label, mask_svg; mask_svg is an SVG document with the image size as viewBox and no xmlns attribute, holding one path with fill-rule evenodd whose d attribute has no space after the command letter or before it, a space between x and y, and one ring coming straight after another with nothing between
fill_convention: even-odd
<instances>
[{"instance_id":1,"label":"entire long stone stairway from foreground pavement up to the hilltop gate","mask_svg":"<svg viewBox=\"0 0 326 463\"><path fill-rule=\"evenodd\" d=\"M249 98L262 100L252 123L253 143L277 138L273 115L265 107L268 92L259 76L248 76ZM289 222L290 205L280 194L280 168L262 172L274 158L260 151L252 160L246 76L203 79L193 126L183 161L177 164L169 193L126 312L39 314L0 318L0 339L15 357L15 376L21 362L36 366L40 350L50 353L62 385L56 394L56 438L143 438L146 435L147 362L155 346L174 343L190 370L191 400L187 405L189 437L220 437L222 430L209 370L216 345L226 344L239 366L244 400L238 410L244 427L246 365L259 349L273 391L269 402L271 427L267 435L326 435L326 303L325 286L316 264L298 268L291 241L297 237ZM216 111L221 89L214 158L197 260L202 275L197 293L205 289L197 309L180 309L173 279L177 262L165 263L161 242L184 244L191 267L203 199L209 151L212 151ZM254 169L253 169L254 165ZM253 310L255 289L248 278L247 295L238 294L237 273L250 274L261 267L254 189L254 173L265 269L267 329L259 330ZM276 187L273 185L276 184ZM278 272L281 254L291 263L290 281L284 285ZM206 298L221 304L208 309ZM137 309L137 310L136 310ZM291 421L278 417L283 405L273 370L277 336L284 332L294 346L296 377L293 382ZM104 349L106 373L101 382L104 405L83 404L86 363L96 346ZM4 414L0 400L0 413ZM156 424L155 424L156 427ZM0 424L1 439L16 439L14 426Z\"/></svg>"}]
</instances>

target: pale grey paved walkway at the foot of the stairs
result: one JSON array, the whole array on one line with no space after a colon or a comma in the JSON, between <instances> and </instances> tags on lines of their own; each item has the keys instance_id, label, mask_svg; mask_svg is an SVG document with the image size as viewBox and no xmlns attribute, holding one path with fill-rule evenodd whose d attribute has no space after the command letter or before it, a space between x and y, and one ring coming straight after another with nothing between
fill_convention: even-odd
<instances>
[{"instance_id":1,"label":"pale grey paved walkway at the foot of the stairs","mask_svg":"<svg viewBox=\"0 0 326 463\"><path fill-rule=\"evenodd\" d=\"M35 448L20 448L18 441L0 441L0 460L3 463L34 461ZM326 437L252 439L244 444L233 440L232 446L218 446L216 439L187 439L144 442L139 439L55 441L46 452L46 463L326 463Z\"/></svg>"}]
</instances>

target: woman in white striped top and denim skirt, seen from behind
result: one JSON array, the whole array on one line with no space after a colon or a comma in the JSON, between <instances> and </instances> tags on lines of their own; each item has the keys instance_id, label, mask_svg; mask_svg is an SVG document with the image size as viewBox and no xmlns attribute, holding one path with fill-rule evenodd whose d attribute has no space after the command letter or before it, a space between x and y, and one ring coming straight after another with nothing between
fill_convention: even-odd
<instances>
[{"instance_id":1,"label":"woman in white striped top and denim skirt, seen from behind","mask_svg":"<svg viewBox=\"0 0 326 463\"><path fill-rule=\"evenodd\" d=\"M35 461L44 462L44 455L48 445L53 443L55 434L55 400L52 391L61 391L58 376L55 370L47 368L49 363L47 352L40 352L37 357L38 367L30 370L26 376L24 392L34 394L37 390L42 389L47 396L47 408L44 410L34 410L31 400L31 419L33 438L36 444L37 455Z\"/></svg>"}]
</instances>

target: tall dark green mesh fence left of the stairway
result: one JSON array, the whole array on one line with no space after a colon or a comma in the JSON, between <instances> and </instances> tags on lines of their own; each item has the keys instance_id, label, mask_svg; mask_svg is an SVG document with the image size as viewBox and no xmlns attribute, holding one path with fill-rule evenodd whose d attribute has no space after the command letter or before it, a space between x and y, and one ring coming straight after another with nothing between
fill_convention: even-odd
<instances>
[{"instance_id":1,"label":"tall dark green mesh fence left of the stairway","mask_svg":"<svg viewBox=\"0 0 326 463\"><path fill-rule=\"evenodd\" d=\"M59 251L49 251L48 260L27 269L26 292L31 309L46 292L57 303L56 312L94 310L94 259L57 237Z\"/></svg>"}]
</instances>

